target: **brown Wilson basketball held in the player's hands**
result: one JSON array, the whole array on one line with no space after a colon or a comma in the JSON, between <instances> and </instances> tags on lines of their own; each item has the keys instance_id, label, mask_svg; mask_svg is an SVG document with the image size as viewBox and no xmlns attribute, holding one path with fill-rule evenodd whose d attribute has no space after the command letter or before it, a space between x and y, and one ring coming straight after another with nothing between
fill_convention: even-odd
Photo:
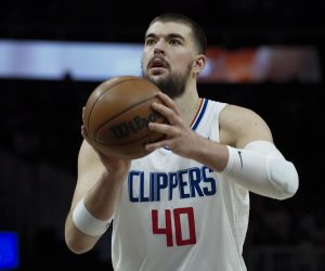
<instances>
[{"instance_id":1,"label":"brown Wilson basketball held in the player's hands","mask_svg":"<svg viewBox=\"0 0 325 271\"><path fill-rule=\"evenodd\" d=\"M83 125L89 143L99 152L121 159L148 154L144 145L165 134L151 131L148 122L167 122L152 109L159 91L153 82L136 76L120 76L98 86L88 98Z\"/></svg>"}]
</instances>

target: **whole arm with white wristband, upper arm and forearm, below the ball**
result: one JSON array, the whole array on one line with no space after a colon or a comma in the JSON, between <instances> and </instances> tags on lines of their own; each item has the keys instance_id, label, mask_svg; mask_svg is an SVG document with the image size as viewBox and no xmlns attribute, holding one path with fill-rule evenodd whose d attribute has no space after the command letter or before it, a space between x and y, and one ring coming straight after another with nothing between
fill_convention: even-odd
<instances>
[{"instance_id":1,"label":"whole arm with white wristband, upper arm and forearm, below the ball","mask_svg":"<svg viewBox=\"0 0 325 271\"><path fill-rule=\"evenodd\" d=\"M72 251L90 250L106 231L128 166L126 162L100 157L83 141L78 156L77 185L65 223L65 240Z\"/></svg>"}]
</instances>

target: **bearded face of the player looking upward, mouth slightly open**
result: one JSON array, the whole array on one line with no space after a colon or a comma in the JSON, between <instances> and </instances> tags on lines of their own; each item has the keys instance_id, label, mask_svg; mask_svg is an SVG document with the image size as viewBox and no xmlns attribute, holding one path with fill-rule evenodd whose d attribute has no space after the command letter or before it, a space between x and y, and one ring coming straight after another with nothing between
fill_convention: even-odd
<instances>
[{"instance_id":1,"label":"bearded face of the player looking upward, mouth slightly open","mask_svg":"<svg viewBox=\"0 0 325 271\"><path fill-rule=\"evenodd\" d=\"M145 36L142 54L143 77L171 98L184 90L195 61L191 28L180 23L156 22Z\"/></svg>"}]
</instances>

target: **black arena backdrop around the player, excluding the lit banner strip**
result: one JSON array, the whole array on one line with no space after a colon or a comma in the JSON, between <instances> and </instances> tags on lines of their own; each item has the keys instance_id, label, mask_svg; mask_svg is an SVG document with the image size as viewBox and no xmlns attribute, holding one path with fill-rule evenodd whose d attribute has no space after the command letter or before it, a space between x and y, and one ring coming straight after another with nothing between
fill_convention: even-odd
<instances>
[{"instance_id":1,"label":"black arena backdrop around the player, excluding the lit banner strip","mask_svg":"<svg viewBox=\"0 0 325 271\"><path fill-rule=\"evenodd\" d=\"M196 18L210 44L315 46L324 70L325 31L316 1L11 1L0 10L0 37L141 42L148 21L162 11ZM81 108L99 83L0 80L0 230L18 232L21 270L110 267L109 232L96 248L79 256L68 251L63 235L82 140ZM323 81L199 86L200 95L260 114L300 176L299 191L288 201L251 194L244 251L250 270L259 270L249 256L261 245L324 247L323 92Z\"/></svg>"}]
</instances>

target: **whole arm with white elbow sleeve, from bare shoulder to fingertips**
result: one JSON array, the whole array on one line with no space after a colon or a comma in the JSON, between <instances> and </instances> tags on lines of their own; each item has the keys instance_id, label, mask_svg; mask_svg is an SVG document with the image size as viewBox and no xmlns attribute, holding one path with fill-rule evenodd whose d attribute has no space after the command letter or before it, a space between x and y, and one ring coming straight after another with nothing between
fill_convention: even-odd
<instances>
[{"instance_id":1,"label":"whole arm with white elbow sleeve, from bare shoulder to fingertips","mask_svg":"<svg viewBox=\"0 0 325 271\"><path fill-rule=\"evenodd\" d=\"M168 145L172 152L207 165L260 195L284 199L296 193L296 168L275 147L271 131L259 115L226 105L219 119L221 143L217 143L192 131L176 103L164 93L159 96L166 106L153 106L168 118L169 124L150 124L150 129L167 137L146 145L148 151Z\"/></svg>"}]
</instances>

